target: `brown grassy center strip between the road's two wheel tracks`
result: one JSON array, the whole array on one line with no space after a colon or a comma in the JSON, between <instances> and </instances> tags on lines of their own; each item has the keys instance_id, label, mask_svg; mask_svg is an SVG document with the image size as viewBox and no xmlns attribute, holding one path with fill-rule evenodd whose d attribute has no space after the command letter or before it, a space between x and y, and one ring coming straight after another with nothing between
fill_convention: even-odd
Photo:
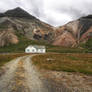
<instances>
[{"instance_id":1,"label":"brown grassy center strip between the road's two wheel tracks","mask_svg":"<svg viewBox=\"0 0 92 92\"><path fill-rule=\"evenodd\" d=\"M11 92L30 92L25 80L24 61L20 60L12 82Z\"/></svg>"}]
</instances>

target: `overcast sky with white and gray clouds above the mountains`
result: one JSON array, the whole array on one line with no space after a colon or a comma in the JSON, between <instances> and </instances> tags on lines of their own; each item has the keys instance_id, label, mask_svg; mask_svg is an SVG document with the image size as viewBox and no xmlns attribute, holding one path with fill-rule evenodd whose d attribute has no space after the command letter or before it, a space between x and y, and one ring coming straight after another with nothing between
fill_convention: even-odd
<instances>
[{"instance_id":1,"label":"overcast sky with white and gray clouds above the mountains","mask_svg":"<svg viewBox=\"0 0 92 92\"><path fill-rule=\"evenodd\" d=\"M15 7L54 26L92 14L92 0L0 0L0 12Z\"/></svg>"}]
</instances>

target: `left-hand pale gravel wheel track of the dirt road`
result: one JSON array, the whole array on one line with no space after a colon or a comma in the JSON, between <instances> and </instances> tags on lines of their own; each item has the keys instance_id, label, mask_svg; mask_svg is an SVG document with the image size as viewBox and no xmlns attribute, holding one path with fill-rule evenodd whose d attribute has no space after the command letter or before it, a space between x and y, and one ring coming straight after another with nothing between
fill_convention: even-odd
<instances>
[{"instance_id":1,"label":"left-hand pale gravel wheel track of the dirt road","mask_svg":"<svg viewBox=\"0 0 92 92\"><path fill-rule=\"evenodd\" d=\"M12 86L10 85L11 80L13 80L15 71L17 69L17 64L20 61L21 58L15 59L8 64L5 65L5 67L9 68L6 70L4 75L0 77L0 92L11 92Z\"/></svg>"}]
</instances>

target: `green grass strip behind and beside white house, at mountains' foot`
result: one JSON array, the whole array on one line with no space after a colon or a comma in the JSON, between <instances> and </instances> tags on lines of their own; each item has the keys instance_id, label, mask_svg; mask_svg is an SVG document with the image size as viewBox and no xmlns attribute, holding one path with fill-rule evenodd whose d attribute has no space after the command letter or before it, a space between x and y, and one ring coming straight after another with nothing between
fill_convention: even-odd
<instances>
[{"instance_id":1,"label":"green grass strip behind and beside white house, at mountains' foot","mask_svg":"<svg viewBox=\"0 0 92 92\"><path fill-rule=\"evenodd\" d=\"M18 44L16 45L10 44L9 46L0 47L0 53L4 53L4 52L8 52L8 53L22 52L23 53L25 51L25 48L29 45L45 45L47 52L57 52L57 53L84 53L86 52L85 49L53 46L43 41L29 40L21 35L18 35L18 37L20 41Z\"/></svg>"}]
</instances>

